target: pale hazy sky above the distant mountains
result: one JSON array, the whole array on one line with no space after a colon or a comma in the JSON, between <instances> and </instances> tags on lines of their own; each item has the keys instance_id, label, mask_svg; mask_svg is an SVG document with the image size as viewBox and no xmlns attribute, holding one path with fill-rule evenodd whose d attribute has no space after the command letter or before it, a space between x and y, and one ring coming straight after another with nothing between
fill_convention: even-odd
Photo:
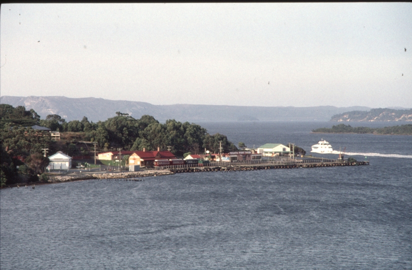
<instances>
[{"instance_id":1,"label":"pale hazy sky above the distant mountains","mask_svg":"<svg viewBox=\"0 0 412 270\"><path fill-rule=\"evenodd\" d=\"M2 4L0 54L1 95L412 107L407 2Z\"/></svg>"}]
</instances>

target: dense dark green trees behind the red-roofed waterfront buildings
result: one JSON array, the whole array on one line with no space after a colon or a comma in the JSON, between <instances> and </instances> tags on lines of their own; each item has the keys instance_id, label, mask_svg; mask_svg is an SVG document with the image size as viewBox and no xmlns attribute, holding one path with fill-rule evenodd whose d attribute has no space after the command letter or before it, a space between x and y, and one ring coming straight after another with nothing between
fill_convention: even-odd
<instances>
[{"instance_id":1,"label":"dense dark green trees behind the red-roofed waterfront buildings","mask_svg":"<svg viewBox=\"0 0 412 270\"><path fill-rule=\"evenodd\" d=\"M49 132L39 132L29 128L32 125L45 126L51 131L67 133L67 139L54 141ZM17 163L21 162L12 157L33 155L30 157L33 160L36 156L34 158L36 162L33 161L31 166L27 166L26 163L20 164L23 168L26 166L24 168L26 171L30 168L30 172L34 175L41 170L41 166L35 166L34 163L39 163L38 159L42 156L44 148L48 148L49 153L60 150L71 156L88 154L87 149L79 149L76 146L79 140L95 142L98 151L117 148L156 150L159 147L170 149L176 156L183 156L185 152L197 154L204 148L211 152L219 152L220 143L222 152L238 150L225 135L219 133L210 135L198 124L182 123L174 119L160 123L150 115L142 115L139 119L135 119L119 111L105 121L93 122L84 116L80 121L67 122L57 114L49 114L45 119L40 119L33 109L26 110L24 106L0 104L0 128L1 177L2 180L7 178L9 182L12 175L18 172L15 169ZM11 167L14 169L10 169Z\"/></svg>"}]
</instances>

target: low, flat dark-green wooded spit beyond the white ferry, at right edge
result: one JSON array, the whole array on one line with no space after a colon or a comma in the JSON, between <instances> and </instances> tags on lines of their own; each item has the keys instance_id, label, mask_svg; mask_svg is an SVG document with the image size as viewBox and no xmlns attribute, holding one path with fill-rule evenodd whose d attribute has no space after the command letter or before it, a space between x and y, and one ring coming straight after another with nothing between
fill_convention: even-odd
<instances>
[{"instance_id":1,"label":"low, flat dark-green wooded spit beyond the white ferry, at right edge","mask_svg":"<svg viewBox=\"0 0 412 270\"><path fill-rule=\"evenodd\" d=\"M350 124L333 125L331 128L323 127L312 129L313 133L358 133L358 134L379 134L379 135L412 135L412 124L402 124L396 126L385 126L371 128L365 126L352 127Z\"/></svg>"}]
</instances>

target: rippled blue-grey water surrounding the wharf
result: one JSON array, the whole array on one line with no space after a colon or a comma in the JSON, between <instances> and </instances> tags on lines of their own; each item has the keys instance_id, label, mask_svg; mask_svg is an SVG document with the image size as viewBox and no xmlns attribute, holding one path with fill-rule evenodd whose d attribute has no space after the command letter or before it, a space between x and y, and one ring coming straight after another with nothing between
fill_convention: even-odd
<instances>
[{"instance_id":1,"label":"rippled blue-grey water surrounding the wharf","mask_svg":"<svg viewBox=\"0 0 412 270\"><path fill-rule=\"evenodd\" d=\"M324 138L370 165L2 189L1 269L412 269L412 136L199 124L247 146Z\"/></svg>"}]
</instances>

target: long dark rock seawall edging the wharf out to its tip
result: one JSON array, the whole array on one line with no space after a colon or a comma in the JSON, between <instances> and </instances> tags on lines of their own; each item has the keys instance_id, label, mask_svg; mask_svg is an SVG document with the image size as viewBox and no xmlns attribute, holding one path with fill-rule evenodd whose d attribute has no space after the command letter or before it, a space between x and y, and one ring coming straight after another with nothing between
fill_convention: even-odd
<instances>
[{"instance_id":1,"label":"long dark rock seawall edging the wharf out to its tip","mask_svg":"<svg viewBox=\"0 0 412 270\"><path fill-rule=\"evenodd\" d=\"M356 162L318 162L318 163L284 163L284 164L246 164L246 165L221 165L208 167L184 167L170 168L173 173L182 172L203 172L203 171L238 171L238 170L259 170L259 169L282 169L282 168L316 168L331 166L358 166L369 165L369 161Z\"/></svg>"}]
</instances>

